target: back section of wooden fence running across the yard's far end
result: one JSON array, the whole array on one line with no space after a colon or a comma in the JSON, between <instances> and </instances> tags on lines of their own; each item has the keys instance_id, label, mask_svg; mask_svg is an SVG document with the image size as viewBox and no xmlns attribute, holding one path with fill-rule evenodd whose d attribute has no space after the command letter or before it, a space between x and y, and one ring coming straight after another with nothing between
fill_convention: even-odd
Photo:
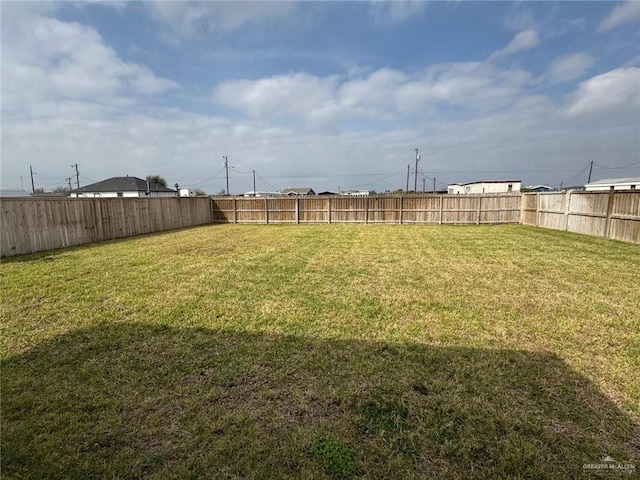
<instances>
[{"instance_id":1,"label":"back section of wooden fence running across the yard's far end","mask_svg":"<svg viewBox=\"0 0 640 480\"><path fill-rule=\"evenodd\" d=\"M520 195L214 198L214 223L520 223Z\"/></svg>"}]
</instances>

